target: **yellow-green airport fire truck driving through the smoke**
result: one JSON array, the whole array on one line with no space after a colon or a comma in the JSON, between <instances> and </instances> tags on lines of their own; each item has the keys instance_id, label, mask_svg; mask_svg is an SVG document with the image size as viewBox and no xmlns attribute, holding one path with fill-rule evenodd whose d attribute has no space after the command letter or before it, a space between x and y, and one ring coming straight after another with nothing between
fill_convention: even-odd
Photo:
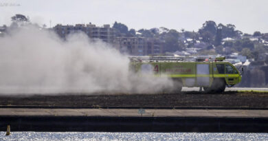
<instances>
[{"instance_id":1,"label":"yellow-green airport fire truck driving through the smoke","mask_svg":"<svg viewBox=\"0 0 268 141\"><path fill-rule=\"evenodd\" d=\"M241 73L225 57L168 57L139 56L130 57L131 69L137 74L152 74L169 77L175 88L203 87L208 92L223 92L241 82Z\"/></svg>"}]
</instances>

